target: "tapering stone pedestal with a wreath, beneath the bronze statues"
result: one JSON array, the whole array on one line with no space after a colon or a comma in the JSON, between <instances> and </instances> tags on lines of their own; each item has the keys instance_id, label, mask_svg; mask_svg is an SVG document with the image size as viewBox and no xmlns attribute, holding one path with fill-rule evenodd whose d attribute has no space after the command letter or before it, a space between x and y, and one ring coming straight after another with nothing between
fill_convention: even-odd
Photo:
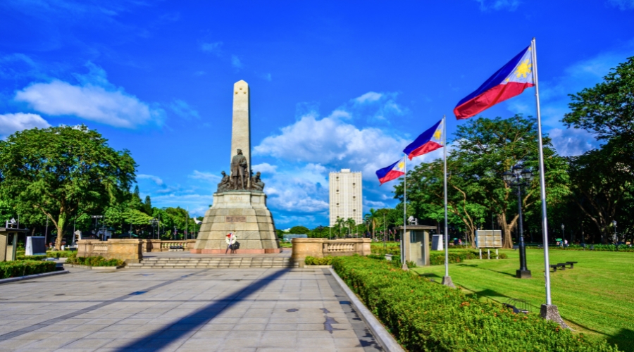
<instances>
[{"instance_id":1,"label":"tapering stone pedestal with a wreath, beneath the bronze statues","mask_svg":"<svg viewBox=\"0 0 634 352\"><path fill-rule=\"evenodd\" d=\"M226 191L213 194L192 253L227 251L227 234L237 237L237 254L280 253L266 194L261 191Z\"/></svg>"}]
</instances>

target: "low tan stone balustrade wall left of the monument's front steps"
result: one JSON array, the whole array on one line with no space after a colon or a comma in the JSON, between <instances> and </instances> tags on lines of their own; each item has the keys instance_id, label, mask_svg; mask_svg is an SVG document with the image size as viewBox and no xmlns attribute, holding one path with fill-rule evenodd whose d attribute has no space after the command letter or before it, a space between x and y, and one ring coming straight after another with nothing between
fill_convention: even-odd
<instances>
[{"instance_id":1,"label":"low tan stone balustrade wall left of the monument's front steps","mask_svg":"<svg viewBox=\"0 0 634 352\"><path fill-rule=\"evenodd\" d=\"M143 258L142 241L139 239L80 239L77 241L78 257L102 256L106 259L120 259L125 263L139 263Z\"/></svg>"}]
</instances>

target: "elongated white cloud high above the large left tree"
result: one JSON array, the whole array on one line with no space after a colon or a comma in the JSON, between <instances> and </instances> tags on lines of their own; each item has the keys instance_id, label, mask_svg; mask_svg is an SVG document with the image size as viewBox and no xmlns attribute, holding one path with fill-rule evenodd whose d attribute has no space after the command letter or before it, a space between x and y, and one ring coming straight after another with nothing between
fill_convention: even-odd
<instances>
[{"instance_id":1,"label":"elongated white cloud high above the large left tree","mask_svg":"<svg viewBox=\"0 0 634 352\"><path fill-rule=\"evenodd\" d=\"M108 82L101 68L89 63L88 75L75 75L80 85L61 80L34 83L15 94L15 101L27 103L39 113L74 115L114 127L135 128L161 122L163 110L152 108L121 87Z\"/></svg>"}]
</instances>

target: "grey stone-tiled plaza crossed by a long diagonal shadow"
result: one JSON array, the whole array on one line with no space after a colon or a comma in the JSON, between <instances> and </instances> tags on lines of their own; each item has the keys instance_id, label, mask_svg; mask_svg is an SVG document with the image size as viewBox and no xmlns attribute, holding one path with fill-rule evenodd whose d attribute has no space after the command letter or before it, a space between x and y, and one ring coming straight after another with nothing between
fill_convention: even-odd
<instances>
[{"instance_id":1,"label":"grey stone-tiled plaza crossed by a long diagonal shadow","mask_svg":"<svg viewBox=\"0 0 634 352\"><path fill-rule=\"evenodd\" d=\"M70 271L0 285L0 351L381 351L325 269Z\"/></svg>"}]
</instances>

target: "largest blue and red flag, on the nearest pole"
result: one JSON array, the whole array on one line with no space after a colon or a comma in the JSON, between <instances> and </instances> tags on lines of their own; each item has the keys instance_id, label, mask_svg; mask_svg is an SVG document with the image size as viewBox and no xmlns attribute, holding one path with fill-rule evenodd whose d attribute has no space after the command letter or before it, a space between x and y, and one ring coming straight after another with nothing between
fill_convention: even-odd
<instances>
[{"instance_id":1,"label":"largest blue and red flag, on the nearest pole","mask_svg":"<svg viewBox=\"0 0 634 352\"><path fill-rule=\"evenodd\" d=\"M480 88L462 99L454 108L454 114L458 120L471 118L534 85L533 53L528 46L489 77Z\"/></svg>"}]
</instances>

